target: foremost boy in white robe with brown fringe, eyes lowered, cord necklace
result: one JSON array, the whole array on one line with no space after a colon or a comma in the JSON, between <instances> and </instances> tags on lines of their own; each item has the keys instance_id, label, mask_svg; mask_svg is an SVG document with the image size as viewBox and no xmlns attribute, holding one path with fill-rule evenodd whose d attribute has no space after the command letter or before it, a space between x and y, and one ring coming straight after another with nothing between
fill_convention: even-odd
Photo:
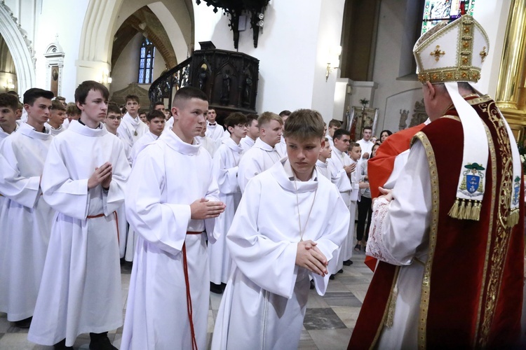
<instances>
[{"instance_id":1,"label":"foremost boy in white robe with brown fringe, eyes lowered, cord necklace","mask_svg":"<svg viewBox=\"0 0 526 350\"><path fill-rule=\"evenodd\" d=\"M320 114L293 112L285 140L288 158L249 181L227 234L234 271L212 349L297 349L309 275L323 295L328 261L348 230L346 205L315 168L324 144Z\"/></svg>"}]
</instances>

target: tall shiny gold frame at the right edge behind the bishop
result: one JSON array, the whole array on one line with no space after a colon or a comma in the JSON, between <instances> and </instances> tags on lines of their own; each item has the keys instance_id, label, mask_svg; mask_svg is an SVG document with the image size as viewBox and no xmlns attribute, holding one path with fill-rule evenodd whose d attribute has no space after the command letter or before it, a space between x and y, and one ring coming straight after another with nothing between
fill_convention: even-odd
<instances>
[{"instance_id":1,"label":"tall shiny gold frame at the right edge behind the bishop","mask_svg":"<svg viewBox=\"0 0 526 350\"><path fill-rule=\"evenodd\" d=\"M526 0L513 0L495 100L517 140L526 130Z\"/></svg>"}]
</instances>

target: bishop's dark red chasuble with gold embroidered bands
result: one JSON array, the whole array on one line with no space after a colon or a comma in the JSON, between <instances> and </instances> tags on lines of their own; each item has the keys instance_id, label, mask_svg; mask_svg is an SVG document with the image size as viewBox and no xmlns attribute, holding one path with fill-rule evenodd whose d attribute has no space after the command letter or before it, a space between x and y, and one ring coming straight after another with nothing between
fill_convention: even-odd
<instances>
[{"instance_id":1,"label":"bishop's dark red chasuble with gold embroidered bands","mask_svg":"<svg viewBox=\"0 0 526 350\"><path fill-rule=\"evenodd\" d=\"M490 144L480 221L448 216L464 145L457 111L450 109L416 135L426 149L433 197L420 312L411 316L419 319L421 349L505 349L520 337L524 187L520 181L519 223L508 228L513 169L506 127L489 97L468 102L485 122ZM385 269L380 274L379 265L373 276L349 349L374 347L384 327L399 267Z\"/></svg>"}]
</instances>

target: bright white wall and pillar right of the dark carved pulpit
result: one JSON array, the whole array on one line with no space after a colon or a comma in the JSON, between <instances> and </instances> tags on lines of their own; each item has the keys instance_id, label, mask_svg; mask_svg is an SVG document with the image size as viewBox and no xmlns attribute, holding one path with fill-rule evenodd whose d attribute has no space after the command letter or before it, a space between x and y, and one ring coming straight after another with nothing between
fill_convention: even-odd
<instances>
[{"instance_id":1,"label":"bright white wall and pillar right of the dark carved pulpit","mask_svg":"<svg viewBox=\"0 0 526 350\"><path fill-rule=\"evenodd\" d=\"M253 46L250 24L241 32L239 52L259 59L258 112L316 108L325 115L332 113L335 76L325 83L326 62L320 63L318 50L330 43L339 44L344 1L328 3L309 0L309 6L304 6L304 0L271 1L257 48ZM199 41L212 41L216 48L234 50L227 16L220 10L213 13L205 3L194 4L194 15L196 49ZM329 35L334 37L326 37Z\"/></svg>"}]
</instances>

